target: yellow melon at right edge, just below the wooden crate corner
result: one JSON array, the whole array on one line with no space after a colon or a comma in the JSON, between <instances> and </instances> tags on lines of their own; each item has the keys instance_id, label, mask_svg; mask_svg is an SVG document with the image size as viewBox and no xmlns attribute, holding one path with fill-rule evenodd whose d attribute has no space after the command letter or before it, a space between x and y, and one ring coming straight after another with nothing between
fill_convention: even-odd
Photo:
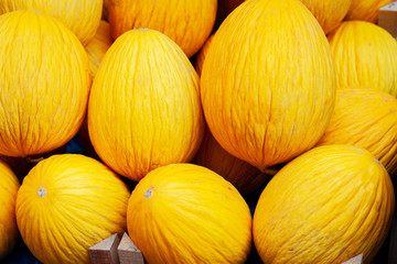
<instances>
[{"instance_id":1,"label":"yellow melon at right edge, just below the wooden crate corner","mask_svg":"<svg viewBox=\"0 0 397 264\"><path fill-rule=\"evenodd\" d=\"M397 42L369 22L346 21L329 41L339 87L380 89L397 97Z\"/></svg>"}]
</instances>

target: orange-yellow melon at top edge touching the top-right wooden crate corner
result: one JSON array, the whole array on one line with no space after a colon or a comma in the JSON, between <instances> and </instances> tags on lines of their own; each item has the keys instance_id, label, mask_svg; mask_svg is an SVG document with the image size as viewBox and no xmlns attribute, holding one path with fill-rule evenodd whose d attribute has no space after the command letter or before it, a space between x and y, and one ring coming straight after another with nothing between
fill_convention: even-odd
<instances>
[{"instance_id":1,"label":"orange-yellow melon at top edge touching the top-right wooden crate corner","mask_svg":"<svg viewBox=\"0 0 397 264\"><path fill-rule=\"evenodd\" d=\"M394 0L353 0L345 20L362 20L377 22L379 8Z\"/></svg>"}]
</instances>

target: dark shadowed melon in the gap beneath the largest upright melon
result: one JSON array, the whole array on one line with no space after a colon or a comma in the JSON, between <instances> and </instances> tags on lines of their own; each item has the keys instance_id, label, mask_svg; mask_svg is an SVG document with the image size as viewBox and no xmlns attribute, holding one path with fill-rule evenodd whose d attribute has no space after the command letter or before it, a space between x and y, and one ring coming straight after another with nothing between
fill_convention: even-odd
<instances>
[{"instance_id":1,"label":"dark shadowed melon in the gap beneath the largest upright melon","mask_svg":"<svg viewBox=\"0 0 397 264\"><path fill-rule=\"evenodd\" d=\"M249 163L230 155L222 148L208 129L205 130L194 163L219 174L243 195L250 194L262 187L271 177L271 175L261 173Z\"/></svg>"}]
</instances>

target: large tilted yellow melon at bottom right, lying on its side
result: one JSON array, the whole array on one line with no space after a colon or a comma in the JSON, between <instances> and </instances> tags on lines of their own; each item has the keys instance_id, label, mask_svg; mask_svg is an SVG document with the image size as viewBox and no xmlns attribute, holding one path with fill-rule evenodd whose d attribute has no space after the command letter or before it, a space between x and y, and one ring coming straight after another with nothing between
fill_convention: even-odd
<instances>
[{"instance_id":1,"label":"large tilted yellow melon at bottom right, lying on its side","mask_svg":"<svg viewBox=\"0 0 397 264\"><path fill-rule=\"evenodd\" d=\"M371 263L395 209L391 180L367 151L319 146L287 164L260 195L254 241L265 263Z\"/></svg>"}]
</instances>

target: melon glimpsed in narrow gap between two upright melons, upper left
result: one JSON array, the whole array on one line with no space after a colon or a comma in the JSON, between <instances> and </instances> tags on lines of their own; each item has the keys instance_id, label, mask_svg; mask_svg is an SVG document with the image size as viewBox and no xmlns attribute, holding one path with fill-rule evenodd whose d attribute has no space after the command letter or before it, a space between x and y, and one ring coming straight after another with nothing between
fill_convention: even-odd
<instances>
[{"instance_id":1,"label":"melon glimpsed in narrow gap between two upright melons, upper left","mask_svg":"<svg viewBox=\"0 0 397 264\"><path fill-rule=\"evenodd\" d=\"M99 64L105 56L105 53L112 44L112 38L110 35L109 23L101 20L98 26L98 30L90 42L85 46L85 50L89 59L89 69L92 72L93 78L98 70Z\"/></svg>"}]
</instances>

